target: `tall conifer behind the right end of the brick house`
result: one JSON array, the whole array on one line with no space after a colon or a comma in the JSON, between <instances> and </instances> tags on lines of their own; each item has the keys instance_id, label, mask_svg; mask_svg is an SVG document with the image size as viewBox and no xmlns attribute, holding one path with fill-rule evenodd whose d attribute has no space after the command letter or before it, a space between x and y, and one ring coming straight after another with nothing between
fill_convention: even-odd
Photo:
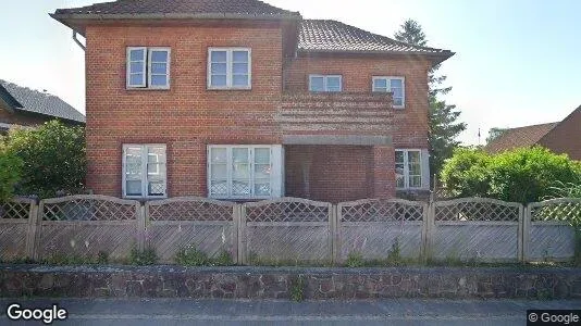
<instances>
[{"instance_id":1,"label":"tall conifer behind the right end of the brick house","mask_svg":"<svg viewBox=\"0 0 581 326\"><path fill-rule=\"evenodd\" d=\"M413 20L407 20L395 33L395 39L416 46L427 46L428 40L422 27ZM465 123L459 123L460 111L456 105L447 104L438 96L446 95L452 87L442 87L446 76L436 75L440 64L432 66L429 73L429 142L430 171L437 175L444 161L452 156L458 147L458 135L466 129Z\"/></svg>"}]
</instances>

